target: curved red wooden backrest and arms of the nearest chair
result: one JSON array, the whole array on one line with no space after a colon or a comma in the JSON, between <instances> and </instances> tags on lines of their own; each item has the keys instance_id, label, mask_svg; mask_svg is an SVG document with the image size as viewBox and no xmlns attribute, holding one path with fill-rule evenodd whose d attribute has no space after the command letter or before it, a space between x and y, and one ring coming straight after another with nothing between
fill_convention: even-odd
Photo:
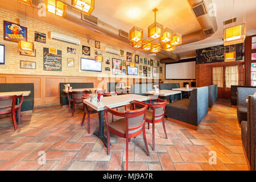
<instances>
[{"instance_id":1,"label":"curved red wooden backrest and arms of the nearest chair","mask_svg":"<svg viewBox=\"0 0 256 182\"><path fill-rule=\"evenodd\" d=\"M144 125L145 119L146 119L147 105L140 104L136 101L131 101L130 104L133 105L133 108L135 108L134 107L135 105L138 105L142 108L136 109L136 110L126 110L126 111L122 112L122 111L117 111L117 110L111 109L110 107L106 106L107 109L105 110L105 121L106 121L107 125L109 123L108 122L108 113L111 113L113 115L117 115L118 117L126 118L126 131L132 132L133 130L137 130L140 127L142 127Z\"/></svg>"}]
</instances>

